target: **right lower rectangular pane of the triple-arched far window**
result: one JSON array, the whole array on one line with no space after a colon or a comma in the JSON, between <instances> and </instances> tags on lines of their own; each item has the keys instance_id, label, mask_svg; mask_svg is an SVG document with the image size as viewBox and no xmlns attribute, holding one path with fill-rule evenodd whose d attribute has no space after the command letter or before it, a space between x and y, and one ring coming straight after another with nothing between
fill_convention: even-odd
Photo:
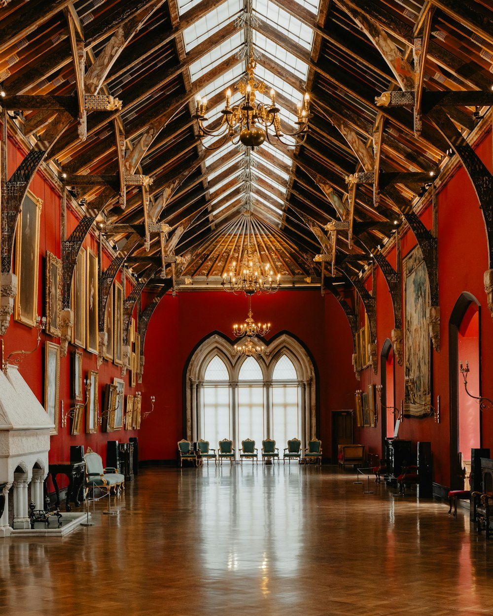
<instances>
[{"instance_id":1,"label":"right lower rectangular pane of the triple-arched far window","mask_svg":"<svg viewBox=\"0 0 493 616\"><path fill-rule=\"evenodd\" d=\"M298 387L272 386L272 436L277 447L288 446L288 439L301 439L301 420L298 408Z\"/></svg>"}]
</instances>

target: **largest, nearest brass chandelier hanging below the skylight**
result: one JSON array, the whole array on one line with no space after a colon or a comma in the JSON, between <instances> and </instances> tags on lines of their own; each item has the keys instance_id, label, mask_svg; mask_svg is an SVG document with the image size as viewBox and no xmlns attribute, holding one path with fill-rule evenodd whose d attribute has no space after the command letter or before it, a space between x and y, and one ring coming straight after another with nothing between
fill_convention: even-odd
<instances>
[{"instance_id":1,"label":"largest, nearest brass chandelier hanging below the skylight","mask_svg":"<svg viewBox=\"0 0 493 616\"><path fill-rule=\"evenodd\" d=\"M306 139L308 120L311 117L308 93L298 102L298 120L295 122L297 128L293 132L282 132L279 116L280 108L277 107L275 102L274 89L270 91L270 104L264 104L258 100L258 94L266 94L267 85L264 81L255 78L253 20L252 2L248 0L243 16L248 65L246 78L238 83L238 91L242 94L240 102L231 107L231 91L229 89L226 91L226 105L221 111L221 123L218 128L213 130L204 126L204 122L208 120L205 116L207 99L197 97L194 118L198 124L198 136L203 147L208 150L216 150L226 144L228 140L234 145L242 143L246 147L255 148L262 145L266 139L272 145L275 145L278 141L285 145L292 145L291 142L284 141L283 137L294 137L298 145ZM203 137L206 136L217 137L218 141L216 140L211 146L206 146L203 143ZM221 137L222 139L220 139Z\"/></svg>"}]
</instances>

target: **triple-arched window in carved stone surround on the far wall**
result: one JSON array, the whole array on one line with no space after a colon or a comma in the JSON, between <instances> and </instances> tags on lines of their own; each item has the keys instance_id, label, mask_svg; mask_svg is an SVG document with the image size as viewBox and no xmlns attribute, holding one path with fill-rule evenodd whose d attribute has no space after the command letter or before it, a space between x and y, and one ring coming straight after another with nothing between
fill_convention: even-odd
<instances>
[{"instance_id":1,"label":"triple-arched window in carved stone surround on the far wall","mask_svg":"<svg viewBox=\"0 0 493 616\"><path fill-rule=\"evenodd\" d=\"M287 440L303 446L316 436L314 368L304 348L288 334L269 344L261 357L240 357L234 342L218 334L206 339L187 366L187 438L205 439L213 448L224 438L236 452L244 439Z\"/></svg>"}]
</instances>

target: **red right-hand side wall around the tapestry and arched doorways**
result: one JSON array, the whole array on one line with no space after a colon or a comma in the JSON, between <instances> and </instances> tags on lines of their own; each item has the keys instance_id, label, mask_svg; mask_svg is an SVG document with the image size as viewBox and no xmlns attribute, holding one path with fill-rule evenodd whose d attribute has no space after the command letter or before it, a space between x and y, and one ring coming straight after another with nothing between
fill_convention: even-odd
<instances>
[{"instance_id":1,"label":"red right-hand side wall around the tapestry and arched doorways","mask_svg":"<svg viewBox=\"0 0 493 616\"><path fill-rule=\"evenodd\" d=\"M491 134L476 147L476 152L492 168ZM449 379L457 378L457 372L449 375L449 319L460 294L464 291L478 299L481 310L481 392L487 397L493 395L493 383L488 375L493 369L493 357L487 352L493 343L493 322L487 309L484 293L483 274L488 268L486 232L478 198L466 172L458 170L438 190L438 262L439 262L439 305L441 312L440 351L432 351L432 396L436 405L440 396L441 422L433 418L405 419L399 429L399 438L412 440L414 447L418 441L430 441L433 452L434 481L450 485L450 416ZM433 213L428 207L421 216L423 223L433 227ZM416 245L412 232L401 238L401 253L405 257ZM388 257L396 266L396 251ZM386 338L391 337L394 315L388 287L380 270L375 270L377 283L377 346L380 354ZM403 306L404 308L404 306ZM380 362L378 374L367 368L361 376L361 389L365 391L369 383L380 383ZM458 368L457 368L458 369ZM476 375L477 376L477 375ZM462 378L461 378L462 381ZM459 383L462 387L462 382ZM404 399L404 365L395 362L395 403L399 407ZM477 407L476 412L479 413ZM355 440L367 446L367 450L381 453L380 429L357 429ZM483 413L483 447L493 447L493 419L491 411Z\"/></svg>"}]
</instances>

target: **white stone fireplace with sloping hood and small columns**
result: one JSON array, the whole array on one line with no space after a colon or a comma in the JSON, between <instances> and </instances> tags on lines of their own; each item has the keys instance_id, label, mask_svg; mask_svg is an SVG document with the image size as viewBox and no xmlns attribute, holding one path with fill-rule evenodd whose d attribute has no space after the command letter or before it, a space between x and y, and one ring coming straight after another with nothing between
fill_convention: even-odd
<instances>
[{"instance_id":1,"label":"white stone fireplace with sloping hood and small columns","mask_svg":"<svg viewBox=\"0 0 493 616\"><path fill-rule=\"evenodd\" d=\"M20 375L17 366L0 371L0 484L6 482L0 537L13 529L29 529L30 499L44 509L43 484L48 472L50 431L54 428L43 406ZM9 525L9 490L13 490L14 521Z\"/></svg>"}]
</instances>

